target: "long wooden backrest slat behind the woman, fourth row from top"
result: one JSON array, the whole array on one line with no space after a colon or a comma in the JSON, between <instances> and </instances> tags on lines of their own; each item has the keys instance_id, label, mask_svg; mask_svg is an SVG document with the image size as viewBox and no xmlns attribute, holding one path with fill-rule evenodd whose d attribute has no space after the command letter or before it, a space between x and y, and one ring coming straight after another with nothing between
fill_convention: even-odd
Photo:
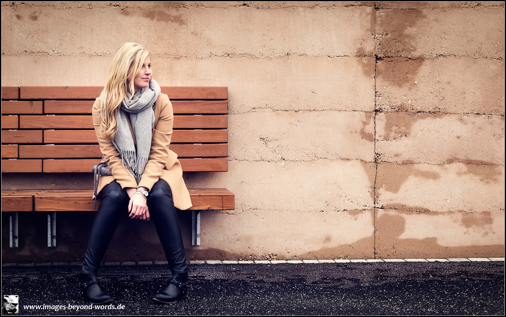
<instances>
[{"instance_id":1,"label":"long wooden backrest slat behind the woman, fourth row from top","mask_svg":"<svg viewBox=\"0 0 506 317\"><path fill-rule=\"evenodd\" d=\"M4 141L2 142L16 143ZM174 130L172 133L171 142L227 143L228 133L227 130ZM98 143L98 141L95 130L49 130L44 131L44 143Z\"/></svg>"}]
</instances>

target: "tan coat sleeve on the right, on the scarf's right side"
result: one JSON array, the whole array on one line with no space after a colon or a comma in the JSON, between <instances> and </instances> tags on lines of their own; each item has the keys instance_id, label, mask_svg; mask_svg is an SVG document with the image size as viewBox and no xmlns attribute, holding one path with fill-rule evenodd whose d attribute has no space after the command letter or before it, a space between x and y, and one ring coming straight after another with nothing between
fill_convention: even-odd
<instances>
[{"instance_id":1,"label":"tan coat sleeve on the right, on the scarf's right side","mask_svg":"<svg viewBox=\"0 0 506 317\"><path fill-rule=\"evenodd\" d=\"M164 167L170 169L177 160L177 155L168 149L168 146L171 144L172 126L174 123L172 104L165 94L160 94L158 99L161 99L160 116L153 129L148 163L144 168L144 173L139 182L139 187L146 187L148 190L151 190L153 185L158 182L162 174L162 169ZM156 108L155 105L155 111Z\"/></svg>"}]
</instances>

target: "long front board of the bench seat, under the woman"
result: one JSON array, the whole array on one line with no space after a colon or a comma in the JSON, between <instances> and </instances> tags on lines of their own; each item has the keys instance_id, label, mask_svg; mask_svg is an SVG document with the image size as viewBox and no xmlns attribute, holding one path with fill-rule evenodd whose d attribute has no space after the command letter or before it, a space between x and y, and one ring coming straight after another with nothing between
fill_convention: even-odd
<instances>
[{"instance_id":1,"label":"long front board of the bench seat, under the woman","mask_svg":"<svg viewBox=\"0 0 506 317\"><path fill-rule=\"evenodd\" d=\"M190 189L188 191L194 205L189 210L231 210L235 208L234 194L229 190ZM40 191L33 195L35 211L92 211L94 210L92 195L93 190Z\"/></svg>"}]
</instances>

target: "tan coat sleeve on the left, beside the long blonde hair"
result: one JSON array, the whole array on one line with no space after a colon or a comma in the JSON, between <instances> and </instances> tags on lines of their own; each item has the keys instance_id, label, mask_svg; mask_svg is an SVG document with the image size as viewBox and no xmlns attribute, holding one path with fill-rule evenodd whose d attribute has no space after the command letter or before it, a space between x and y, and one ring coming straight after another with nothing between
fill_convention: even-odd
<instances>
[{"instance_id":1,"label":"tan coat sleeve on the left, beside the long blonde hair","mask_svg":"<svg viewBox=\"0 0 506 317\"><path fill-rule=\"evenodd\" d=\"M118 150L112 144L111 141L107 140L99 133L100 128L100 101L98 98L95 100L95 104L93 104L93 125L95 127L95 133L97 134L98 144L100 145L100 151L105 156L104 161L107 162L109 169L116 179L116 182L121 186L121 188L125 187L134 187L137 188L137 182L135 177L126 169L123 165L123 161L121 160L121 156L119 155Z\"/></svg>"}]
</instances>

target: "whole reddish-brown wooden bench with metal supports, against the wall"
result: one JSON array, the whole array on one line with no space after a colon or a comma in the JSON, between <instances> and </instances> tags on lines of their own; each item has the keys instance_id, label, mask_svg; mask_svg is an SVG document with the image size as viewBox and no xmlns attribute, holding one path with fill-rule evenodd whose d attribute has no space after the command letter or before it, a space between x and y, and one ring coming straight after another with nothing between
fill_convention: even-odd
<instances>
[{"instance_id":1,"label":"whole reddish-brown wooden bench with metal supports, against the wall","mask_svg":"<svg viewBox=\"0 0 506 317\"><path fill-rule=\"evenodd\" d=\"M2 172L90 173L102 154L91 109L103 87L2 87ZM227 171L227 87L161 87L174 109L170 149L183 171ZM90 188L93 184L90 184ZM234 209L226 189L189 189L192 245L200 245L200 210ZM91 211L93 190L6 190L10 246L18 246L19 211L48 212L48 246L56 246L56 211ZM97 200L97 208L99 204Z\"/></svg>"}]
</instances>

